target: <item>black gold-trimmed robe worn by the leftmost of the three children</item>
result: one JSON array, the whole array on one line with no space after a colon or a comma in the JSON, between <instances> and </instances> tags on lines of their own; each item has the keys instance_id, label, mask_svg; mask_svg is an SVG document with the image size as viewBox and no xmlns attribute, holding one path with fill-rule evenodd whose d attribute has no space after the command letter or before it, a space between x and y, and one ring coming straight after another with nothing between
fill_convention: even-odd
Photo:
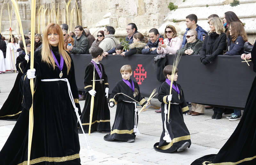
<instances>
[{"instance_id":1,"label":"black gold-trimmed robe worn by the leftmost of the three children","mask_svg":"<svg viewBox=\"0 0 256 165\"><path fill-rule=\"evenodd\" d=\"M110 131L110 111L108 108L108 99L105 96L105 89L108 88L108 76L105 73L103 64L97 64L100 68L102 67L102 84L100 83L100 76L98 75L95 69L95 97L94 97L94 107L92 114L92 126L91 133L93 131ZM92 90L92 79L93 79L93 64L90 64L85 69L84 76L84 90L85 90L85 103L83 113L80 116L84 132L88 133L89 131L89 123L90 123L90 110L91 110L91 98L92 96L88 91ZM83 133L82 129L78 125L79 133Z\"/></svg>"}]
</instances>

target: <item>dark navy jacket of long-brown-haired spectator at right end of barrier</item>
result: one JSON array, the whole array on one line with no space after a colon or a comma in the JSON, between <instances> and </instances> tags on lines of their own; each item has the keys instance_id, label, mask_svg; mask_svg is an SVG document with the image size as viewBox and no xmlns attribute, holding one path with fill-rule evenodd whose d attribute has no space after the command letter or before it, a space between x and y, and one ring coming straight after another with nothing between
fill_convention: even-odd
<instances>
[{"instance_id":1,"label":"dark navy jacket of long-brown-haired spectator at right end of barrier","mask_svg":"<svg viewBox=\"0 0 256 165\"><path fill-rule=\"evenodd\" d=\"M227 46L227 52L226 55L241 55L244 53L244 39L241 35L238 35L236 38L235 43L232 42L232 39L230 36L227 38L228 40L228 46Z\"/></svg>"}]
</instances>

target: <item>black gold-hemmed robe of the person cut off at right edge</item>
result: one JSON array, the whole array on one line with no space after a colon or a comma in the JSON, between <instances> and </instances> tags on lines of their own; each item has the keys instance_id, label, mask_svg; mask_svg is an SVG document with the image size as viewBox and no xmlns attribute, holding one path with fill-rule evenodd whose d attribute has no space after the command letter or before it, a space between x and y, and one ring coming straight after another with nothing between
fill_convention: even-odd
<instances>
[{"instance_id":1,"label":"black gold-hemmed robe of the person cut off at right edge","mask_svg":"<svg viewBox=\"0 0 256 165\"><path fill-rule=\"evenodd\" d=\"M253 71L256 72L256 41L251 55ZM256 77L247 98L243 116L238 123L236 130L229 137L217 154L205 155L196 159L191 165L235 165L235 164L256 164Z\"/></svg>"}]
</instances>

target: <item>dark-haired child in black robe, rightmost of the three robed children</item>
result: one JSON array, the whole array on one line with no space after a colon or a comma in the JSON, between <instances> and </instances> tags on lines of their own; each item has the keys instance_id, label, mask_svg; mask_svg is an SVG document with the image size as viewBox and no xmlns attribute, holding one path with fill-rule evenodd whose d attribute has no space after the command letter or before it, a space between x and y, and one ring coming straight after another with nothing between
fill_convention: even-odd
<instances>
[{"instance_id":1,"label":"dark-haired child in black robe, rightmost of the three robed children","mask_svg":"<svg viewBox=\"0 0 256 165\"><path fill-rule=\"evenodd\" d=\"M156 143L154 148L156 151L163 153L180 152L191 145L190 134L183 119L183 114L189 112L189 109L181 86L176 83L178 68L173 78L172 94L170 95L172 67L172 65L164 67L163 73L166 80L159 87L157 96L158 100L162 102L163 132L160 142ZM169 101L171 101L170 119L167 119Z\"/></svg>"}]
</instances>

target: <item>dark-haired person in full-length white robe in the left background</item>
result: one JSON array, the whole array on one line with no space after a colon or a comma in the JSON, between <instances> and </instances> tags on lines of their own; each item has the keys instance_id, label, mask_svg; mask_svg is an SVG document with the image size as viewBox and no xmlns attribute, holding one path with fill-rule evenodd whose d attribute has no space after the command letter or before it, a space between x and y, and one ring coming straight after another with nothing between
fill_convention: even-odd
<instances>
[{"instance_id":1,"label":"dark-haired person in full-length white robe in the left background","mask_svg":"<svg viewBox=\"0 0 256 165\"><path fill-rule=\"evenodd\" d=\"M16 70L15 64L16 64L16 58L18 57L16 51L18 48L19 46L16 43L14 36L12 35L12 38L9 38L7 48L6 48L6 58L5 58L6 71Z\"/></svg>"}]
</instances>

